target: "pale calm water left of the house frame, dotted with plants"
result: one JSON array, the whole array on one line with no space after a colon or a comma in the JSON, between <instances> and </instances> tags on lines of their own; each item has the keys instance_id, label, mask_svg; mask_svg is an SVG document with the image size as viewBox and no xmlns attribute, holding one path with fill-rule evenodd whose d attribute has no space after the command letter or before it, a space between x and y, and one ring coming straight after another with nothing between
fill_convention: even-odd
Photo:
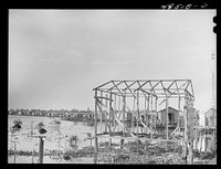
<instances>
[{"instance_id":1,"label":"pale calm water left of the house frame, dotted with plants","mask_svg":"<svg viewBox=\"0 0 221 169\"><path fill-rule=\"evenodd\" d=\"M18 138L17 142L17 150L23 150L23 151L39 151L39 138L38 137L29 137L31 134L31 130L35 133L34 135L39 135L38 124L43 123L44 128L48 130L44 138L44 152L49 150L69 150L71 149L69 146L69 138L73 135L77 135L78 148L90 146L90 140L84 140L86 138L85 133L91 133L92 136L94 136L94 127L87 126L84 123L73 123L73 122L65 122L61 120L60 118L50 118L50 117L34 117L34 116L14 116L9 115L8 116L8 149L14 149L14 145L12 144L12 136L10 128L13 126L13 120L20 119L22 122L22 128L15 133L15 137ZM61 125L56 125L54 122L60 120ZM32 127L31 127L32 126ZM67 137L65 137L67 136ZM94 141L93 141L94 144ZM36 159L38 157L34 158ZM24 162L24 163L31 163L32 157L22 157L18 156L15 162ZM72 162L88 162L92 161L92 159L74 159L75 161L71 160ZM9 163L13 162L13 156L8 157ZM57 163L57 162L70 162L70 161L56 161L51 159L49 156L44 156L44 163Z\"/></svg>"}]
</instances>

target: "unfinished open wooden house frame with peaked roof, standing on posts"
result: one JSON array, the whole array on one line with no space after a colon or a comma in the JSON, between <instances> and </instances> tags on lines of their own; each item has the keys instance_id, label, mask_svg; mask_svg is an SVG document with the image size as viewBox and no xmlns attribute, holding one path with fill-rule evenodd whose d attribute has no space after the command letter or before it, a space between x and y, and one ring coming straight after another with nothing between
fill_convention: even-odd
<instances>
[{"instance_id":1,"label":"unfinished open wooden house frame with peaked roof, standing on posts","mask_svg":"<svg viewBox=\"0 0 221 169\"><path fill-rule=\"evenodd\" d=\"M137 141L137 150L138 141L178 142L187 163L192 163L196 128L191 80L109 81L93 91L95 160L99 138L108 138L109 146L115 138L120 147L125 140Z\"/></svg>"}]
</instances>

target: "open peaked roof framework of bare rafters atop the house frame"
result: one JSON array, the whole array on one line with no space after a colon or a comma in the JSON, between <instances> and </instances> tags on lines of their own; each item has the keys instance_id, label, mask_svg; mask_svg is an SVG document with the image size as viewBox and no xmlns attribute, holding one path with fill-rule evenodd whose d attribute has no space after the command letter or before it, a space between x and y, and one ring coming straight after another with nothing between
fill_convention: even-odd
<instances>
[{"instance_id":1,"label":"open peaked roof framework of bare rafters atop the house frame","mask_svg":"<svg viewBox=\"0 0 221 169\"><path fill-rule=\"evenodd\" d=\"M167 86L165 86L165 84L167 84ZM137 91L141 91L143 94L148 94L156 97L161 95L157 93L160 91L164 92L164 95L166 95L167 97L170 95L181 96L186 93L186 91L188 91L192 97L194 95L191 80L108 81L107 83L95 87L93 91L95 89L120 96L125 96L124 92L128 89L128 92L135 98L135 92Z\"/></svg>"}]
</instances>

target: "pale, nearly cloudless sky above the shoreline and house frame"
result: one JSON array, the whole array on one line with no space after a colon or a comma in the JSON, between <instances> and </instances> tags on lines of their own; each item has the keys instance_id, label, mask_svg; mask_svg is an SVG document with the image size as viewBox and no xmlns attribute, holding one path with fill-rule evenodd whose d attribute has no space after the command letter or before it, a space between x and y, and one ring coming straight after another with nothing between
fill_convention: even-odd
<instances>
[{"instance_id":1,"label":"pale, nearly cloudless sky above the shoreline and house frame","mask_svg":"<svg viewBox=\"0 0 221 169\"><path fill-rule=\"evenodd\" d=\"M94 109L110 80L191 80L212 107L215 10L9 10L9 108ZM217 54L215 54L217 55Z\"/></svg>"}]
</instances>

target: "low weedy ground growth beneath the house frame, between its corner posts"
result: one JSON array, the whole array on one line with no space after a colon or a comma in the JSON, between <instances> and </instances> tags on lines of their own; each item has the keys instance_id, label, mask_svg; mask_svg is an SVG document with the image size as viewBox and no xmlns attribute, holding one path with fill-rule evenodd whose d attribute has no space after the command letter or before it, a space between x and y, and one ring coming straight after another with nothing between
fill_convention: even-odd
<instances>
[{"instance_id":1,"label":"low weedy ground growth beneath the house frame, between its corner posts","mask_svg":"<svg viewBox=\"0 0 221 169\"><path fill-rule=\"evenodd\" d=\"M145 144L139 142L139 151L137 152L137 141L125 144L124 149L101 148L98 154L99 162L114 163L148 163L148 165L183 165L186 163L181 156L181 146L175 144L165 144L158 146L148 145L148 150L144 149Z\"/></svg>"}]
</instances>

